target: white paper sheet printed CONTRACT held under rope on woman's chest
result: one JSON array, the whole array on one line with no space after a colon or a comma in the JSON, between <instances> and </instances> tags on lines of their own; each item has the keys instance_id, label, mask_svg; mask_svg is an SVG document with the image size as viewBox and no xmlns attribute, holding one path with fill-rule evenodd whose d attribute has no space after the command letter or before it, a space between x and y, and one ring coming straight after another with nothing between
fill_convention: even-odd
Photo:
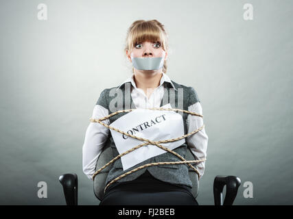
<instances>
[{"instance_id":1,"label":"white paper sheet printed CONTRACT held under rope on woman's chest","mask_svg":"<svg viewBox=\"0 0 293 219\"><path fill-rule=\"evenodd\" d=\"M163 108L172 108L168 103ZM183 117L174 111L136 109L125 116L121 116L110 124L121 131L133 136L152 141L169 140L184 135ZM132 149L145 141L122 135L110 129L119 154ZM168 149L176 149L185 142L185 138L175 142L161 143ZM121 157L123 170L127 170L145 159L169 153L158 146L148 144Z\"/></svg>"}]
</instances>

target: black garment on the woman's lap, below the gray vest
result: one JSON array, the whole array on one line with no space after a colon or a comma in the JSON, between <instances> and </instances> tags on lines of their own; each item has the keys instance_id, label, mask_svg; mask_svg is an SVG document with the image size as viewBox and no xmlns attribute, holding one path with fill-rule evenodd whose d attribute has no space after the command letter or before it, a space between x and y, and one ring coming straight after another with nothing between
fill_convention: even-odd
<instances>
[{"instance_id":1,"label":"black garment on the woman's lap, below the gray vest","mask_svg":"<svg viewBox=\"0 0 293 219\"><path fill-rule=\"evenodd\" d=\"M99 205L198 205L191 188L155 179L148 170L139 178L113 183Z\"/></svg>"}]
</instances>

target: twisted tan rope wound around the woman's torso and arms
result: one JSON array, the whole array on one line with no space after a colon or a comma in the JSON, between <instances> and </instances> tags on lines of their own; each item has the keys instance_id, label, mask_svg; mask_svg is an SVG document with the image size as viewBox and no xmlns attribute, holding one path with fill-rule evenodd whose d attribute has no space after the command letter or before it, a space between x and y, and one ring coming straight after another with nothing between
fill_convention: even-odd
<instances>
[{"instance_id":1,"label":"twisted tan rope wound around the woman's torso and arms","mask_svg":"<svg viewBox=\"0 0 293 219\"><path fill-rule=\"evenodd\" d=\"M102 166L102 168L99 168L99 170L97 170L94 174L93 174L93 179L95 179L95 176L101 172L102 170L104 170L104 168L106 168L107 166L109 166L110 164L112 164L113 162L115 162L116 159L119 159L120 157L134 151L134 150L137 150L139 149L141 146L145 146L145 145L148 145L148 144L153 144L153 145L156 145L158 146L159 148L165 150L165 151L168 151L169 153L172 153L174 155L176 155L177 157L179 157L180 159L182 159L183 161L182 162L158 162L158 163L151 163L151 164L145 164L143 166L139 166L133 170L130 170L126 173L124 173L123 175L120 175L119 177L117 177L116 179L113 179L112 181L110 181L110 183L108 183L108 185L106 185L105 189L104 189L104 192L106 192L106 189L108 188L108 186L110 186L112 183L114 183L115 181L123 178L123 177L126 177L127 175L130 175L132 172L135 172L137 170L141 170L142 168L146 168L148 166L156 166L156 165L164 165L164 164L187 164L188 166L190 166L195 172L196 174L198 175L198 180L200 179L200 173L198 172L198 170L196 170L196 168L194 166L192 166L190 163L199 163L199 162L203 162L205 161L206 159L198 159L198 160L189 160L187 161L186 159L184 159L182 156L180 156L178 153L176 153L175 151L172 151L170 149L167 149L165 146L162 146L161 143L166 143L166 142L175 142L177 140L181 140L183 138L186 138L188 136L191 136L193 135L194 133L197 133L198 131L202 130L204 128L204 125L202 125L202 127L194 130L194 131L191 131L190 133L187 133L186 135L184 136L181 136L181 137L178 137L178 138L172 138L172 139L169 139L169 140L162 140L162 141L152 141L152 140L148 140L148 139L145 139L145 138L140 138L140 137L137 137L137 136L132 136L124 131L120 131L119 129L116 129L114 127L110 127L109 125L106 125L105 123L102 123L102 120L106 120L107 118L110 118L111 116L114 116L116 114L119 114L119 113L122 113L122 112L131 112L133 110L137 110L137 109L130 109L130 110L119 110L117 112L114 112L112 114L109 114L108 116L104 116L103 118L99 118L99 119L94 119L94 118L90 118L90 121L92 123L99 123L101 125L104 125L104 127L107 127L108 129L113 129L115 131L118 131L119 133L121 134L124 134L126 136L129 136L129 137L132 137L132 138L136 138L138 140L143 140L145 141L145 143L143 144L139 144L137 146L134 146L132 149L129 149L128 151L124 152L124 153L121 153L120 155L118 155L117 157L114 157L112 160L110 160L110 162L108 162L107 164L105 164L104 166ZM180 109L172 109L172 108L147 108L145 110L168 110L168 111L180 111L180 112L185 112L187 114L191 114L193 116L200 116L200 117L203 117L202 115L200 114L196 114L194 112L189 112L187 110L180 110Z\"/></svg>"}]
</instances>

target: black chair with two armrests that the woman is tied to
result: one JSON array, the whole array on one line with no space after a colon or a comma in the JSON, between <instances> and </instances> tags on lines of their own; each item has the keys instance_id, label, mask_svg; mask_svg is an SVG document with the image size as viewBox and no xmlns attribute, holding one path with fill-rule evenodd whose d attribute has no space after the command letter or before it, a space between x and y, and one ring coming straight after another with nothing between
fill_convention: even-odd
<instances>
[{"instance_id":1,"label":"black chair with two armrests that the woman is tied to","mask_svg":"<svg viewBox=\"0 0 293 219\"><path fill-rule=\"evenodd\" d=\"M113 159L112 149L110 146L105 146L99 159L97 160L96 170L107 164L111 159ZM192 155L190 150L187 150L186 160L192 160L195 157ZM104 187L106 183L106 177L113 164L107 166L95 176L94 180L94 193L95 196L102 200L104 197ZM194 170L189 167L189 178L192 181L193 188L191 193L196 198L198 196L198 175ZM63 191L65 194L65 200L67 205L78 205L78 175L75 173L67 173L59 177L59 181L62 184ZM215 205L233 205L235 197L237 196L239 185L241 181L238 177L234 176L216 176L213 181L213 196ZM226 196L224 198L224 203L222 201L223 189L226 185Z\"/></svg>"}]
</instances>

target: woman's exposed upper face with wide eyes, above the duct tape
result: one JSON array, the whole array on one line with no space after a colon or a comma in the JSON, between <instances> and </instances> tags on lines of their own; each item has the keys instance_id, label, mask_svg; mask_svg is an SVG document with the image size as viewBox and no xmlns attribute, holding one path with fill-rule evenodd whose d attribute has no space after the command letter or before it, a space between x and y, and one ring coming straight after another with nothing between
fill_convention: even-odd
<instances>
[{"instance_id":1,"label":"woman's exposed upper face with wide eyes, above the duct tape","mask_svg":"<svg viewBox=\"0 0 293 219\"><path fill-rule=\"evenodd\" d=\"M167 52L163 50L160 42L139 42L134 45L131 53L126 51L126 55L131 62L131 57L164 57L167 59Z\"/></svg>"}]
</instances>

